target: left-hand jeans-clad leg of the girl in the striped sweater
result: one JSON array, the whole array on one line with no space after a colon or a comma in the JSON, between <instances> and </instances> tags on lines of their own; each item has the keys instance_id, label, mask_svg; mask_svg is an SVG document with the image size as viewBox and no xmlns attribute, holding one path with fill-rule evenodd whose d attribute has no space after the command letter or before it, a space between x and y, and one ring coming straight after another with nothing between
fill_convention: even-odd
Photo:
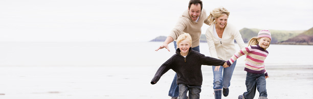
<instances>
[{"instance_id":1,"label":"left-hand jeans-clad leg of the girl in the striped sweater","mask_svg":"<svg viewBox=\"0 0 313 99\"><path fill-rule=\"evenodd\" d=\"M258 74L252 74L247 72L247 77L245 78L245 86L247 86L247 92L243 93L243 97L247 99L254 98L256 91L256 78Z\"/></svg>"}]
</instances>

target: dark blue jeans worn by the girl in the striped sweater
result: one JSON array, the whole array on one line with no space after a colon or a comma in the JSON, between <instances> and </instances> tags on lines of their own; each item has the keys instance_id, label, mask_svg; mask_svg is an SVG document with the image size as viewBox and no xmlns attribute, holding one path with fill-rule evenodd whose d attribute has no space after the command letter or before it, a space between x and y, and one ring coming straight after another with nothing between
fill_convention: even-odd
<instances>
[{"instance_id":1,"label":"dark blue jeans worn by the girl in the striped sweater","mask_svg":"<svg viewBox=\"0 0 313 99\"><path fill-rule=\"evenodd\" d=\"M247 72L247 77L245 78L245 86L247 86L247 92L243 93L243 97L247 99L254 98L256 89L258 89L260 95L267 97L266 92L266 80L263 74L253 74Z\"/></svg>"}]
</instances>

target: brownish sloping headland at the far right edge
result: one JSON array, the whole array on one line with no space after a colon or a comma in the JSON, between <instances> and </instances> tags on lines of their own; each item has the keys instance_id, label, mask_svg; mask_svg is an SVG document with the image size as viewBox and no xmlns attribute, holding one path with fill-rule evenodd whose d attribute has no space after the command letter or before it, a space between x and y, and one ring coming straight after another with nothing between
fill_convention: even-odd
<instances>
[{"instance_id":1,"label":"brownish sloping headland at the far right edge","mask_svg":"<svg viewBox=\"0 0 313 99\"><path fill-rule=\"evenodd\" d=\"M281 41L278 44L313 45L313 27L294 38Z\"/></svg>"}]
</instances>

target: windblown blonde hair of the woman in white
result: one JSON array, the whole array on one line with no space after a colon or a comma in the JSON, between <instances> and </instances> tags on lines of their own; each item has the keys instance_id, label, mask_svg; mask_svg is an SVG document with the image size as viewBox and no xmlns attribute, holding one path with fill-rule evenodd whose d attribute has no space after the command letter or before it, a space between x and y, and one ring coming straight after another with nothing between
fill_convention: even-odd
<instances>
[{"instance_id":1,"label":"windblown blonde hair of the woman in white","mask_svg":"<svg viewBox=\"0 0 313 99\"><path fill-rule=\"evenodd\" d=\"M216 23L216 19L219 18L222 14L226 14L227 16L229 16L230 12L224 8L224 7L219 7L219 8L215 8L210 12L210 15L208 16L208 20L210 21L210 24L215 24Z\"/></svg>"}]
</instances>

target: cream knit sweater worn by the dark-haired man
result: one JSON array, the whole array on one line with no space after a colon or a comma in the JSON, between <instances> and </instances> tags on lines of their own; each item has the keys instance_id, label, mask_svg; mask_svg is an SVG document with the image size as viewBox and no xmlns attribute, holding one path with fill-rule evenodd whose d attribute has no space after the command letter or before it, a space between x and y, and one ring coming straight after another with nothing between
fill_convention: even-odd
<instances>
[{"instance_id":1,"label":"cream knit sweater worn by the dark-haired man","mask_svg":"<svg viewBox=\"0 0 313 99\"><path fill-rule=\"evenodd\" d=\"M186 10L183 15L178 19L175 27L172 29L169 37L172 37L174 40L178 38L178 36L184 34L184 32L190 34L192 39L192 46L197 47L200 44L200 36L201 36L201 27L203 23L209 25L209 20L207 18L206 10L202 9L201 14L199 15L198 22L191 20L189 16L188 10Z\"/></svg>"}]
</instances>

